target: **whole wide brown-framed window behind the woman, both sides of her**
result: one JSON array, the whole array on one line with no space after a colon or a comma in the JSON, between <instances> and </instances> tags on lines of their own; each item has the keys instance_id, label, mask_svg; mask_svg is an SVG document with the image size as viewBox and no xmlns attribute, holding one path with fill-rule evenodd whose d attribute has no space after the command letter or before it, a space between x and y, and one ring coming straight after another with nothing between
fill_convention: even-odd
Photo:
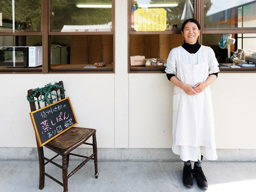
<instances>
[{"instance_id":1,"label":"whole wide brown-framed window behind the woman, both sides of her","mask_svg":"<svg viewBox=\"0 0 256 192\"><path fill-rule=\"evenodd\" d=\"M131 0L128 13L128 72L164 72L162 66L134 65L130 57L161 58L166 63L170 50L183 44L180 28L187 18L198 20L198 41L212 47L219 63L232 62L229 57L237 50L256 50L256 0ZM228 49L218 45L222 34L230 34L236 40ZM220 70L241 72L256 68Z\"/></svg>"}]
</instances>

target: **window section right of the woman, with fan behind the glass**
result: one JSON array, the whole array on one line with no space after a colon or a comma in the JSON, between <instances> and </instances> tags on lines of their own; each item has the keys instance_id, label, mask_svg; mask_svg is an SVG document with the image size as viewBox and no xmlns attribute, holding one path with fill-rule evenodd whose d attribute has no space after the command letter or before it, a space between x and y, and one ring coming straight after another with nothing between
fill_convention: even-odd
<instances>
[{"instance_id":1,"label":"window section right of the woman, with fan behind the glass","mask_svg":"<svg viewBox=\"0 0 256 192\"><path fill-rule=\"evenodd\" d=\"M220 6L221 5L221 6ZM228 1L204 0L204 27L201 30L202 43L211 46L220 63L246 62L230 60L234 52L256 50L256 0ZM222 34L230 34L236 41L230 49L218 46ZM238 53L237 53L238 54ZM226 72L256 71L256 68L220 68Z\"/></svg>"}]
</instances>

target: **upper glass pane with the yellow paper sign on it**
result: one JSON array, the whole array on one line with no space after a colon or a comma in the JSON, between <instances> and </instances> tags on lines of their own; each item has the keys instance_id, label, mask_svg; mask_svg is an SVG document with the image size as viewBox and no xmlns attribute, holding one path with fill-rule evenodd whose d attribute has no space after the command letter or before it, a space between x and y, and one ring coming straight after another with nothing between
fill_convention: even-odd
<instances>
[{"instance_id":1,"label":"upper glass pane with the yellow paper sign on it","mask_svg":"<svg viewBox=\"0 0 256 192\"><path fill-rule=\"evenodd\" d=\"M168 31L194 18L194 0L131 0L133 31Z\"/></svg>"}]
</instances>

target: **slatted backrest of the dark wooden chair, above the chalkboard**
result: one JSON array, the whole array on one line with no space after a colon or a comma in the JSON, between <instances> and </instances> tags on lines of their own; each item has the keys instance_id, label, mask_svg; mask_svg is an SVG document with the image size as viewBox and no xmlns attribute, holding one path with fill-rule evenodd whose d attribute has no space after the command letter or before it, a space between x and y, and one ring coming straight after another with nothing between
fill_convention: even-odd
<instances>
[{"instance_id":1,"label":"slatted backrest of the dark wooden chair, above the chalkboard","mask_svg":"<svg viewBox=\"0 0 256 192\"><path fill-rule=\"evenodd\" d=\"M58 86L62 86L62 88L64 89L64 86L63 86L63 82L60 81L58 83L56 83L56 85ZM51 88L50 92L54 92L57 96L55 96L56 98L56 101L59 101L59 100L62 100L65 98L64 96L64 91L63 89L60 88L60 87L53 87ZM33 89L30 89L28 90L28 97L31 97L34 93L36 92L36 90L33 90ZM32 98L32 100L35 100L34 98L36 98L36 100L39 100L40 96L42 94L40 94L39 92ZM42 95L44 97L44 95ZM54 98L52 98L52 96L50 96L50 100L53 100ZM40 109L41 107L44 107L44 106L47 106L48 104L46 104L45 102L39 102L39 101L36 101L36 102L32 102L30 101L29 102L30 104L30 110L31 112L32 111L35 111L35 110L38 110ZM41 106L42 105L42 106Z\"/></svg>"}]
</instances>

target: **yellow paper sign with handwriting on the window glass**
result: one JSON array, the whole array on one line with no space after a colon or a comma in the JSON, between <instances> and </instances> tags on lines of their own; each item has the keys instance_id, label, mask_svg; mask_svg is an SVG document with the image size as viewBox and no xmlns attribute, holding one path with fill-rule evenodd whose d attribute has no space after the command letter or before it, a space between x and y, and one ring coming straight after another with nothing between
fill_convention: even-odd
<instances>
[{"instance_id":1,"label":"yellow paper sign with handwriting on the window glass","mask_svg":"<svg viewBox=\"0 0 256 192\"><path fill-rule=\"evenodd\" d=\"M137 9L134 12L134 29L136 31L166 30L166 10Z\"/></svg>"}]
</instances>

